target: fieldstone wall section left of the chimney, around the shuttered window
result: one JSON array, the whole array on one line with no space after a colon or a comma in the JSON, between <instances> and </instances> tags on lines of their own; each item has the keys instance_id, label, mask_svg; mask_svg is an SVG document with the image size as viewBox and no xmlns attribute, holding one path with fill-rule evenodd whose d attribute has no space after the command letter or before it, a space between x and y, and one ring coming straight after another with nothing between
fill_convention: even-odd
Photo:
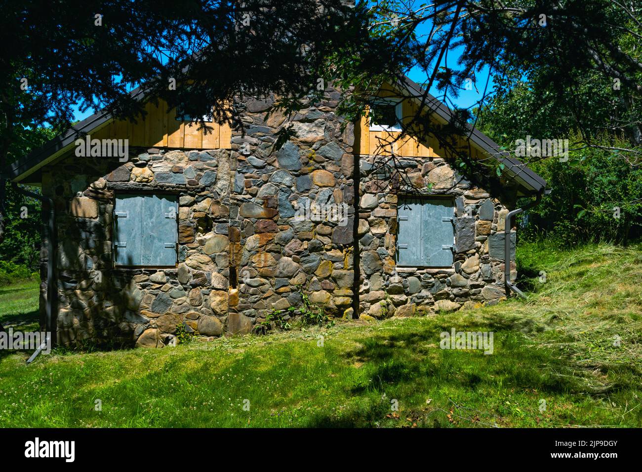
<instances>
[{"instance_id":1,"label":"fieldstone wall section left of the chimney, around the shuttered window","mask_svg":"<svg viewBox=\"0 0 642 472\"><path fill-rule=\"evenodd\" d=\"M161 345L178 326L221 335L229 287L229 162L227 150L150 149L123 165L72 156L47 168L42 191L55 201L60 241L59 343ZM178 267L114 267L114 195L150 191L179 197Z\"/></svg>"}]
</instances>

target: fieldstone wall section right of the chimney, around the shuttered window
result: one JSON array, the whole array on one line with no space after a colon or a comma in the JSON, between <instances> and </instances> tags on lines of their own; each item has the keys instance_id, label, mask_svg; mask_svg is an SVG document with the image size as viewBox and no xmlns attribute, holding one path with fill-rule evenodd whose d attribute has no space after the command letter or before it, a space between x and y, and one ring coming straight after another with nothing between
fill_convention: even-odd
<instances>
[{"instance_id":1,"label":"fieldstone wall section right of the chimney, around the shuttered window","mask_svg":"<svg viewBox=\"0 0 642 472\"><path fill-rule=\"evenodd\" d=\"M383 168L379 165L381 159L384 158L369 156L360 162L361 313L375 318L412 316L457 310L464 302L494 303L505 297L507 207L458 175L440 157L400 159L406 173L403 182L408 182L408 188L391 188L390 179L377 175L377 170ZM395 266L397 199L403 195L453 197L453 268ZM511 236L514 241L514 232ZM511 270L512 277L516 276L514 262Z\"/></svg>"}]
</instances>

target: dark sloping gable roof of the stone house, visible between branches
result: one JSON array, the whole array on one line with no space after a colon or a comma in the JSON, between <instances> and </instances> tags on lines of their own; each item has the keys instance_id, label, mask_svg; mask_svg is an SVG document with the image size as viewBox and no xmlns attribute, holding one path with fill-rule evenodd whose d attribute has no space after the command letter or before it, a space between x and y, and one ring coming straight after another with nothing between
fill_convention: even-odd
<instances>
[{"instance_id":1,"label":"dark sloping gable roof of the stone house, visible between branches","mask_svg":"<svg viewBox=\"0 0 642 472\"><path fill-rule=\"evenodd\" d=\"M433 110L437 116L449 121L453 112L442 101L435 98L435 96L426 93L426 91L416 82L413 82L407 76L404 76L403 83L400 84L401 89L407 92L413 100L420 100L424 94L426 96L426 103L428 107ZM143 100L144 91L141 87L136 87L132 92L132 96L137 100ZM101 110L83 119L80 123L76 123L73 127L69 128L64 133L51 139L44 146L29 153L22 159L13 163L6 172L5 177L13 182L37 182L40 179L34 180L37 177L37 171L46 166L49 162L54 161L57 157L71 149L74 141L78 139L79 135L89 134L99 128L107 125L112 119L112 115L107 110ZM537 173L532 171L526 164L510 157L510 154L499 148L499 145L492 141L487 135L483 134L480 130L473 128L469 123L466 123L469 129L469 139L483 152L488 153L491 157L501 162L505 166L504 173L510 179L514 179L523 195L532 195L540 193L546 188L546 180L542 179ZM34 175L35 174L35 175ZM31 179L28 177L32 176Z\"/></svg>"}]
</instances>

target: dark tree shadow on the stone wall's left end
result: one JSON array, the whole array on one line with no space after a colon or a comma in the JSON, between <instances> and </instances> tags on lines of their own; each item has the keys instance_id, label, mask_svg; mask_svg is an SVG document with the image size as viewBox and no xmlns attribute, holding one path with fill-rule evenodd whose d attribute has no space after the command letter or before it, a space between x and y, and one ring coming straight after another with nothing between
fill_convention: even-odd
<instances>
[{"instance_id":1,"label":"dark tree shadow on the stone wall's left end","mask_svg":"<svg viewBox=\"0 0 642 472\"><path fill-rule=\"evenodd\" d=\"M103 176L121 162L78 159L65 170L71 179L53 184L58 232L58 344L101 347L134 345L150 319L139 313L143 292L135 283L142 270L114 268L114 192ZM78 167L78 168L76 168ZM133 265L133 261L132 265Z\"/></svg>"}]
</instances>

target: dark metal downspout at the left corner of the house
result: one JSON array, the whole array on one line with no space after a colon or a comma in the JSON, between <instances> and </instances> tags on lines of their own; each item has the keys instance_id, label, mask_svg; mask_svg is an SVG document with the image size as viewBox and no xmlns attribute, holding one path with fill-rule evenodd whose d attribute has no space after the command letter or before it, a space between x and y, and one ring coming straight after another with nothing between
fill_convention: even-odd
<instances>
[{"instance_id":1,"label":"dark metal downspout at the left corner of the house","mask_svg":"<svg viewBox=\"0 0 642 472\"><path fill-rule=\"evenodd\" d=\"M55 331L53 330L53 316L56 313L56 298L58 294L58 288L56 287L56 226L55 226L55 208L53 205L53 200L44 195L39 195L38 193L33 193L28 190L25 190L18 186L15 182L12 182L13 189L25 195L26 197L35 198L40 200L43 204L49 205L49 216L45 225L45 238L47 240L47 306L46 306L46 319L45 319L45 331L47 332L46 343L51 347L52 343L55 342ZM40 347L36 349L35 353L27 360L27 363L33 362L33 360L40 354L40 351L46 347L45 342L40 344Z\"/></svg>"}]
</instances>

